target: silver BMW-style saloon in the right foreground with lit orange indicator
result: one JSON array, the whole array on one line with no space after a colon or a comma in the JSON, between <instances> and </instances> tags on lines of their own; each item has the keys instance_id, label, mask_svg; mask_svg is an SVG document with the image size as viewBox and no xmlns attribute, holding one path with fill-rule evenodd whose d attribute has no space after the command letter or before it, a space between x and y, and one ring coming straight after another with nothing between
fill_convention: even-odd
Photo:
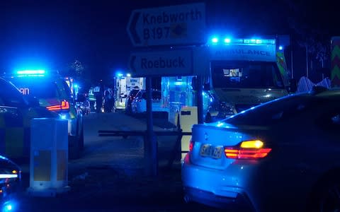
<instances>
[{"instance_id":1,"label":"silver BMW-style saloon in the right foreground with lit orange indicator","mask_svg":"<svg viewBox=\"0 0 340 212\"><path fill-rule=\"evenodd\" d=\"M186 201L244 211L340 210L340 90L315 89L193 125Z\"/></svg>"}]
</instances>

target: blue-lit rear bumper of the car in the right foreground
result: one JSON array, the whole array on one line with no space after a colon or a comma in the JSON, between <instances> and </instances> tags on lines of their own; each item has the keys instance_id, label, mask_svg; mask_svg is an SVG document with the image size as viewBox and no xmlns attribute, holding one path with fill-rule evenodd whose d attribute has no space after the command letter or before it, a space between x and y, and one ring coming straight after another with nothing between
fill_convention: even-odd
<instances>
[{"instance_id":1,"label":"blue-lit rear bumper of the car in the right foreground","mask_svg":"<svg viewBox=\"0 0 340 212\"><path fill-rule=\"evenodd\" d=\"M254 201L257 203L261 196L248 186L253 174L251 168L238 165L227 170L193 165L189 155L184 158L181 169L183 191L188 201L218 208L237 208L237 211L259 211Z\"/></svg>"}]
</instances>

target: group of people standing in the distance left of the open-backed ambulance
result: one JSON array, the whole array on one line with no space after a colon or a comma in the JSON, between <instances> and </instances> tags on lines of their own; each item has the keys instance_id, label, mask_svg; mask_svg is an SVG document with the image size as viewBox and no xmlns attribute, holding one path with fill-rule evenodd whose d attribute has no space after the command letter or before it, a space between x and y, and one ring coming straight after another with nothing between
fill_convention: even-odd
<instances>
[{"instance_id":1,"label":"group of people standing in the distance left of the open-backed ambulance","mask_svg":"<svg viewBox=\"0 0 340 212\"><path fill-rule=\"evenodd\" d=\"M111 88L104 88L104 86L94 87L94 96L96 98L96 112L101 113L102 107L104 112L115 112L115 98Z\"/></svg>"}]
</instances>

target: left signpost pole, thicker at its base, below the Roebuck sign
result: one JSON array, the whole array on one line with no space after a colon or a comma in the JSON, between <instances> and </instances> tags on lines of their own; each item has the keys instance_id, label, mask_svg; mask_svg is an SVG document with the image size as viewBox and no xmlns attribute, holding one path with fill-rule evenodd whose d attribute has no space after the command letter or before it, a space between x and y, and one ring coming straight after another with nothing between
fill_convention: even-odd
<instances>
[{"instance_id":1,"label":"left signpost pole, thicker at its base, below the Roebuck sign","mask_svg":"<svg viewBox=\"0 0 340 212\"><path fill-rule=\"evenodd\" d=\"M147 91L147 136L145 139L145 168L148 176L155 177L158 175L158 146L157 139L154 136L153 119L152 119L152 78L146 78L146 91Z\"/></svg>"}]
</instances>

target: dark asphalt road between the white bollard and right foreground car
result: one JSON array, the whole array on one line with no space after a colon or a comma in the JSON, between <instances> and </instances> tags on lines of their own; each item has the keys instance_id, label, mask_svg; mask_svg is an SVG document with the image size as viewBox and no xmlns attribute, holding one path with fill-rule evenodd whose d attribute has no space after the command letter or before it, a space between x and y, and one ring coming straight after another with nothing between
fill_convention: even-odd
<instances>
[{"instance_id":1,"label":"dark asphalt road between the white bollard and right foreground car","mask_svg":"<svg viewBox=\"0 0 340 212\"><path fill-rule=\"evenodd\" d=\"M164 129L156 120L155 131ZM169 124L166 124L169 126ZM159 136L159 175L145 175L144 141L140 136L100 137L98 130L146 130L143 117L120 112L84 118L84 153L69 161L70 191L55 197L22 192L18 211L219 211L186 204L181 187L180 156L167 167L176 136ZM29 166L23 164L23 187L29 187Z\"/></svg>"}]
</instances>

